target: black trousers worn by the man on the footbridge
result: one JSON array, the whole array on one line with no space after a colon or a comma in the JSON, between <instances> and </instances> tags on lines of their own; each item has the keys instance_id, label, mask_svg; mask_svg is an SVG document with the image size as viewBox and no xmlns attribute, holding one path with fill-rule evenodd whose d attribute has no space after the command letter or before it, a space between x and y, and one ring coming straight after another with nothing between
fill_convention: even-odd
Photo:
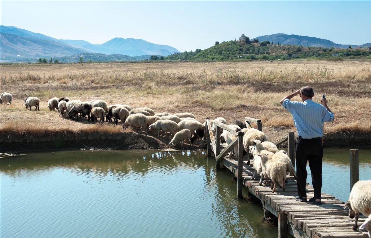
<instances>
[{"instance_id":1,"label":"black trousers worn by the man on the footbridge","mask_svg":"<svg viewBox=\"0 0 371 238\"><path fill-rule=\"evenodd\" d=\"M308 173L306 172L306 162L308 161L312 174L314 198L321 199L323 156L321 137L312 139L298 138L296 140L295 156L298 196L306 198L305 185L306 177L308 176Z\"/></svg>"}]
</instances>

